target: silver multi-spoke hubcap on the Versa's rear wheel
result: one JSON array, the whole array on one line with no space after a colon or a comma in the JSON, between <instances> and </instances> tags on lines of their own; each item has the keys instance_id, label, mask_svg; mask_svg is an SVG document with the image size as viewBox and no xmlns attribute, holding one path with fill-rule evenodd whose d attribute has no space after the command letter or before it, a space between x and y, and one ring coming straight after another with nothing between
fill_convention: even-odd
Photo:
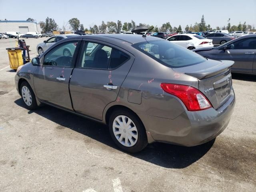
<instances>
[{"instance_id":1,"label":"silver multi-spoke hubcap on the Versa's rear wheel","mask_svg":"<svg viewBox=\"0 0 256 192\"><path fill-rule=\"evenodd\" d=\"M123 146L134 146L138 140L138 130L134 122L127 116L120 115L114 119L113 132Z\"/></svg>"}]
</instances>

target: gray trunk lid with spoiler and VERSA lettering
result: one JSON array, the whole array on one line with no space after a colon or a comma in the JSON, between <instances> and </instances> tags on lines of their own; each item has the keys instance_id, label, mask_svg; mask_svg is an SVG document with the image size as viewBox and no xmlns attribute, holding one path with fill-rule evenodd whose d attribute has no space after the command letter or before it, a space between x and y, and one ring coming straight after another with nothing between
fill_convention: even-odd
<instances>
[{"instance_id":1,"label":"gray trunk lid with spoiler and VERSA lettering","mask_svg":"<svg viewBox=\"0 0 256 192\"><path fill-rule=\"evenodd\" d=\"M201 64L174 68L174 70L197 78L199 90L208 98L212 107L218 109L230 97L233 64L233 61L228 60L207 60Z\"/></svg>"}]
</instances>

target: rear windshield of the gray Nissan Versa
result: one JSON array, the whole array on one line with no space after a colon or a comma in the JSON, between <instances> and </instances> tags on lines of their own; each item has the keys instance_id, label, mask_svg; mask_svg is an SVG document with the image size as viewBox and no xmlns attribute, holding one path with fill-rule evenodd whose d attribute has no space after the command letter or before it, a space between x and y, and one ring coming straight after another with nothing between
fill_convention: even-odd
<instances>
[{"instance_id":1,"label":"rear windshield of the gray Nissan Versa","mask_svg":"<svg viewBox=\"0 0 256 192\"><path fill-rule=\"evenodd\" d=\"M147 41L136 43L132 46L161 64L171 68L195 65L206 61L206 59L199 54L169 41Z\"/></svg>"}]
</instances>

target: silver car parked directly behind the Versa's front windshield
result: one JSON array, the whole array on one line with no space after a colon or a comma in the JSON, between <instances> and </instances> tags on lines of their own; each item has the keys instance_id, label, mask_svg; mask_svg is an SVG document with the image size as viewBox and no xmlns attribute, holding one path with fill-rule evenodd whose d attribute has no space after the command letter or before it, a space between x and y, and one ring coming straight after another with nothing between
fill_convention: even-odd
<instances>
[{"instance_id":1,"label":"silver car parked directly behind the Versa's front windshield","mask_svg":"<svg viewBox=\"0 0 256 192\"><path fill-rule=\"evenodd\" d=\"M50 46L54 45L56 42L65 39L65 38L69 38L69 37L74 37L74 36L79 36L78 34L66 34L66 35L57 35L57 36L52 36L50 38L48 38L48 40L44 40L44 42L38 44L36 46L36 50L40 55L42 55ZM66 55L70 54L70 50L66 50L65 52Z\"/></svg>"}]
</instances>

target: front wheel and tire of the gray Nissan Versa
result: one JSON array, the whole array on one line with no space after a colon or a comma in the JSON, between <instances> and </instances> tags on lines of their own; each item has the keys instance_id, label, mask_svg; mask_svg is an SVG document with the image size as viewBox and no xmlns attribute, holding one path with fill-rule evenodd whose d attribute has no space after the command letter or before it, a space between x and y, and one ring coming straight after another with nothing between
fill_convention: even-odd
<instances>
[{"instance_id":1,"label":"front wheel and tire of the gray Nissan Versa","mask_svg":"<svg viewBox=\"0 0 256 192\"><path fill-rule=\"evenodd\" d=\"M22 97L22 101L25 104L26 108L29 110L36 109L38 107L36 103L36 96L28 84L28 82L23 81L20 84L20 94Z\"/></svg>"}]
</instances>

